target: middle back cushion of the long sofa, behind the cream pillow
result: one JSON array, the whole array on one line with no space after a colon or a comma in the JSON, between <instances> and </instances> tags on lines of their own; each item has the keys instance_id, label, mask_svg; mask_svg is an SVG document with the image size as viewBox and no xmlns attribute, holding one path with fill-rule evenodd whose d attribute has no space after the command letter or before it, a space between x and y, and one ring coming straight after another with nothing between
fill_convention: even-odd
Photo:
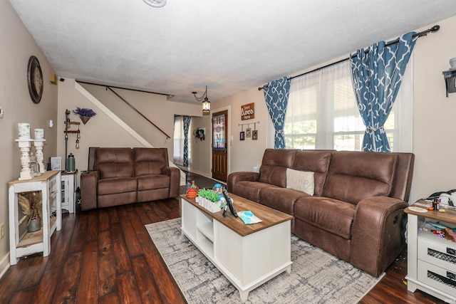
<instances>
[{"instance_id":1,"label":"middle back cushion of the long sofa, behind the cream pillow","mask_svg":"<svg viewBox=\"0 0 456 304\"><path fill-rule=\"evenodd\" d=\"M291 169L314 172L314 194L316 196L321 196L332 156L333 150L296 151Z\"/></svg>"}]
</instances>

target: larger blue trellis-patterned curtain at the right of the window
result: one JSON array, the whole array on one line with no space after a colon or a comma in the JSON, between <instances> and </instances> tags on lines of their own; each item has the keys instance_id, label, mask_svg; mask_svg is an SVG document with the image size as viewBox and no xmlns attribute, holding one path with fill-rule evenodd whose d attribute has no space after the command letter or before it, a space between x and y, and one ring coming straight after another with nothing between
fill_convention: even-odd
<instances>
[{"instance_id":1,"label":"larger blue trellis-patterned curtain at the right of the window","mask_svg":"<svg viewBox=\"0 0 456 304\"><path fill-rule=\"evenodd\" d=\"M393 103L415 46L413 32L399 37L399 42L385 46L380 41L351 56L353 90L366 132L363 151L391 152L383 125L390 115Z\"/></svg>"}]
</instances>

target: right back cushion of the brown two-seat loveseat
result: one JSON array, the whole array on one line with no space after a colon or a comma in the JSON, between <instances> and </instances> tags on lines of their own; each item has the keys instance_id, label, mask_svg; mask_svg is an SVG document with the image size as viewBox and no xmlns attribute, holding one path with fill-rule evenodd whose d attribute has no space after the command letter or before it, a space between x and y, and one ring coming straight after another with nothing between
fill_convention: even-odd
<instances>
[{"instance_id":1,"label":"right back cushion of the brown two-seat loveseat","mask_svg":"<svg viewBox=\"0 0 456 304\"><path fill-rule=\"evenodd\" d=\"M168 166L168 151L166 148L135 148L135 177L150 174L162 174Z\"/></svg>"}]
</instances>

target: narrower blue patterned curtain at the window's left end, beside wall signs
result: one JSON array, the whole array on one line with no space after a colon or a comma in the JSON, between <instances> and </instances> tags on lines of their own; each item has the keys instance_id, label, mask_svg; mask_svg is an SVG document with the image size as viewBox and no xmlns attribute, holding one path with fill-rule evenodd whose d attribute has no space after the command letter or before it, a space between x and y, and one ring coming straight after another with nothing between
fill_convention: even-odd
<instances>
[{"instance_id":1,"label":"narrower blue patterned curtain at the window's left end, beside wall signs","mask_svg":"<svg viewBox=\"0 0 456 304\"><path fill-rule=\"evenodd\" d=\"M284 120L290 94L290 81L286 77L271 81L263 87L263 91L264 100L276 130L274 149L285 149Z\"/></svg>"}]
</instances>

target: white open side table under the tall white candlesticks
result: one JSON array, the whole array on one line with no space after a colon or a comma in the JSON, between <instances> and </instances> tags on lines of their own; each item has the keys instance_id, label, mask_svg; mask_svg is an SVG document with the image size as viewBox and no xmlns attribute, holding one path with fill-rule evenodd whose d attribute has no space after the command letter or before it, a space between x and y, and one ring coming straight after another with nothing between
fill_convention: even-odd
<instances>
[{"instance_id":1,"label":"white open side table under the tall white candlesticks","mask_svg":"<svg viewBox=\"0 0 456 304\"><path fill-rule=\"evenodd\" d=\"M43 252L43 256L51 253L51 236L62 227L61 206L61 172L48 171L38 177L26 180L14 180L8 183L9 188L9 260L16 265L21 256ZM22 192L41 191L43 198L41 229L27 232L19 229L24 219L19 219L18 194ZM55 216L53 216L55 211ZM21 228L23 228L22 225Z\"/></svg>"}]
</instances>

